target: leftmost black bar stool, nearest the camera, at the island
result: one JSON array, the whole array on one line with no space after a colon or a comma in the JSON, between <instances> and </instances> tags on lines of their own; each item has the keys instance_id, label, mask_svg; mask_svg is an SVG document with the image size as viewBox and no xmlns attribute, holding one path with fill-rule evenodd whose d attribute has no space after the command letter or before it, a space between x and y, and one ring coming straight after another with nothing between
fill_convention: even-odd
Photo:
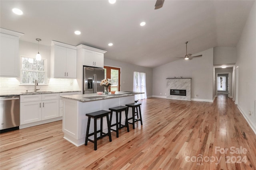
<instances>
[{"instance_id":1,"label":"leftmost black bar stool, nearest the camera, at the island","mask_svg":"<svg viewBox=\"0 0 256 170\"><path fill-rule=\"evenodd\" d=\"M106 110L100 110L100 111L95 111L92 113L86 113L86 116L88 116L88 123L87 123L87 129L86 129L86 137L85 137L85 143L84 145L87 145L88 141L94 143L94 150L97 150L97 140L101 139L102 137L105 137L108 135L109 141L111 142L111 133L110 133L110 121L108 118L108 114L110 111ZM102 132L102 121L103 117L106 116L107 118L107 124L108 124L108 133ZM90 129L90 121L91 118L94 118L94 132L89 134L89 129ZM100 130L97 131L97 119L100 118ZM97 137L97 133L100 133L100 137ZM88 139L88 137L94 135L94 140Z\"/></svg>"}]
</instances>

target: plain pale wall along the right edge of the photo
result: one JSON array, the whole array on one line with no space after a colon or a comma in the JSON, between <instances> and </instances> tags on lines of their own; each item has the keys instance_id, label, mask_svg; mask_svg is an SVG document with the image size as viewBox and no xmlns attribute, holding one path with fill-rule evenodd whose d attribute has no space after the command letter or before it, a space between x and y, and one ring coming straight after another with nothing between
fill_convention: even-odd
<instances>
[{"instance_id":1,"label":"plain pale wall along the right edge of the photo","mask_svg":"<svg viewBox=\"0 0 256 170\"><path fill-rule=\"evenodd\" d=\"M238 108L256 133L256 3L248 16L237 45ZM249 115L252 112L252 115Z\"/></svg>"}]
</instances>

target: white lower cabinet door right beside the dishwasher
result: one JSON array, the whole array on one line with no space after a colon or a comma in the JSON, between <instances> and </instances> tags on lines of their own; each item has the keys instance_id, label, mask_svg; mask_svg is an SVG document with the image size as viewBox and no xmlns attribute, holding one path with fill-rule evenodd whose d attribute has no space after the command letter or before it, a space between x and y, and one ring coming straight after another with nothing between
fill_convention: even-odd
<instances>
[{"instance_id":1,"label":"white lower cabinet door right beside the dishwasher","mask_svg":"<svg viewBox=\"0 0 256 170\"><path fill-rule=\"evenodd\" d=\"M41 102L20 103L20 124L41 121Z\"/></svg>"}]
</instances>

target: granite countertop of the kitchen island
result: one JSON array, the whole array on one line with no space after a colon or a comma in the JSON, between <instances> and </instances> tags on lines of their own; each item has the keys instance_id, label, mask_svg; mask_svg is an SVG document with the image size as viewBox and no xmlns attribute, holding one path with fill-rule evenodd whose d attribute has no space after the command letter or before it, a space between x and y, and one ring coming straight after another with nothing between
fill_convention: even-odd
<instances>
[{"instance_id":1,"label":"granite countertop of the kitchen island","mask_svg":"<svg viewBox=\"0 0 256 170\"><path fill-rule=\"evenodd\" d=\"M76 95L69 95L69 96L60 96L64 99L76 100L79 102L91 102L95 100L105 100L110 98L120 98L126 96L133 96L136 94L143 94L143 92L116 92L115 94L102 94L98 95L97 93L93 94L76 94Z\"/></svg>"}]
</instances>

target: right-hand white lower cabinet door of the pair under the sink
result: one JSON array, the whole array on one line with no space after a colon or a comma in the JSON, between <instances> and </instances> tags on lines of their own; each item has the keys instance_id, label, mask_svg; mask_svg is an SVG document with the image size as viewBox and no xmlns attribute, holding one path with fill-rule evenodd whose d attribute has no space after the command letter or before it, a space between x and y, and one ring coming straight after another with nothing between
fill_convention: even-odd
<instances>
[{"instance_id":1,"label":"right-hand white lower cabinet door of the pair under the sink","mask_svg":"<svg viewBox=\"0 0 256 170\"><path fill-rule=\"evenodd\" d=\"M42 120L59 117L59 100L42 101Z\"/></svg>"}]
</instances>

